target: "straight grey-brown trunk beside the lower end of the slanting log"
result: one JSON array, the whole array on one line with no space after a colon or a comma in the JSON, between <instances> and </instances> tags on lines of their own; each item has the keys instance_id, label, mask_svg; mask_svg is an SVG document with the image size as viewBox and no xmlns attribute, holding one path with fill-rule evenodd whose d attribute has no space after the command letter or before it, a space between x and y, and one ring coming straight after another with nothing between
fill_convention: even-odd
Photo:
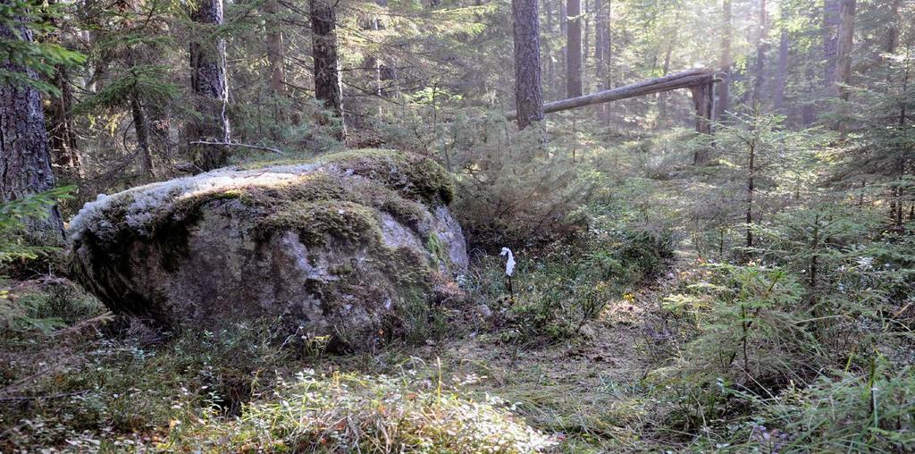
<instances>
[{"instance_id":1,"label":"straight grey-brown trunk beside the lower end of the slanting log","mask_svg":"<svg viewBox=\"0 0 915 454\"><path fill-rule=\"evenodd\" d=\"M537 0L511 0L514 38L515 107L518 128L544 120L540 86L540 37ZM579 55L581 53L579 52Z\"/></svg>"}]
</instances>

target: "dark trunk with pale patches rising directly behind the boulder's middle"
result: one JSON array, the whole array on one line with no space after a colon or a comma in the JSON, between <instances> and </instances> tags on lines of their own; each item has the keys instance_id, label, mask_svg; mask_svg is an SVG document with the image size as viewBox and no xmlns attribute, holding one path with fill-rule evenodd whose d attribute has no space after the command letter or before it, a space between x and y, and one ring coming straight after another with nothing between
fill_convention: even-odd
<instances>
[{"instance_id":1,"label":"dark trunk with pale patches rising directly behind the boulder's middle","mask_svg":"<svg viewBox=\"0 0 915 454\"><path fill-rule=\"evenodd\" d=\"M189 128L191 141L229 143L229 85L226 81L225 41L218 37L222 25L222 0L200 0L190 17L200 27L202 38L190 43L190 84L196 95L199 120ZM199 168L210 170L224 166L229 150L225 146L198 146Z\"/></svg>"}]
</instances>

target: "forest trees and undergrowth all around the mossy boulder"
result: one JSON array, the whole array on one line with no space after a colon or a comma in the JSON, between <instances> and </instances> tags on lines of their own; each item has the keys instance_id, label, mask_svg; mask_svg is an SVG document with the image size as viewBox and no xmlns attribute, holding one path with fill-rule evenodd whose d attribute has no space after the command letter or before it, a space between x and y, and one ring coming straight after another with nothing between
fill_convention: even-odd
<instances>
[{"instance_id":1,"label":"forest trees and undergrowth all around the mossy boulder","mask_svg":"<svg viewBox=\"0 0 915 454\"><path fill-rule=\"evenodd\" d=\"M915 449L913 27L909 0L0 0L0 450ZM544 114L682 74L714 83ZM68 279L86 202L361 148L445 168L471 257L390 345L162 333Z\"/></svg>"}]
</instances>

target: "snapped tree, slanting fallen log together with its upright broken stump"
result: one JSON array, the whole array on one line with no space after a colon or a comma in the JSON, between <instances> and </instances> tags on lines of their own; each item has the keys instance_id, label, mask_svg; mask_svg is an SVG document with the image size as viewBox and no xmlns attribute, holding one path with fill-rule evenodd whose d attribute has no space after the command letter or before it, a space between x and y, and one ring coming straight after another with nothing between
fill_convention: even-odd
<instances>
[{"instance_id":1,"label":"snapped tree, slanting fallen log together with its upright broken stump","mask_svg":"<svg viewBox=\"0 0 915 454\"><path fill-rule=\"evenodd\" d=\"M544 114L688 88L693 92L693 103L696 111L695 129L700 133L710 134L712 132L712 111L715 102L715 94L712 88L715 82L715 71L713 70L684 70L610 90L589 93L584 96L554 101L553 103L545 103ZM511 114L507 118L514 120L517 115Z\"/></svg>"}]
</instances>

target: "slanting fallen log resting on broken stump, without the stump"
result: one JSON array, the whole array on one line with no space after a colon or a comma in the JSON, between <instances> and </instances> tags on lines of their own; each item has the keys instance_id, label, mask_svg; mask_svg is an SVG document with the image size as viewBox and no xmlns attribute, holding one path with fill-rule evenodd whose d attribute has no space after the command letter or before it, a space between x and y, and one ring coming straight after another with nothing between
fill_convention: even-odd
<instances>
[{"instance_id":1,"label":"slanting fallen log resting on broken stump, without the stump","mask_svg":"<svg viewBox=\"0 0 915 454\"><path fill-rule=\"evenodd\" d=\"M553 103L545 103L544 114L566 111L569 109L575 109L577 107L585 107L586 105L609 103L611 101L635 98L637 96L644 96L646 94L669 92L671 90L679 90L684 88L707 87L714 82L715 73L712 70L684 70L656 79L649 79L647 81L640 81L630 85L624 85L622 87L617 87L611 90L590 93L584 96L577 96L575 98L569 98L562 101L554 101ZM708 108L705 105L701 107L703 111L706 111ZM703 114L705 114L705 112ZM508 117L509 120L514 120L515 118L515 114L511 114Z\"/></svg>"}]
</instances>

